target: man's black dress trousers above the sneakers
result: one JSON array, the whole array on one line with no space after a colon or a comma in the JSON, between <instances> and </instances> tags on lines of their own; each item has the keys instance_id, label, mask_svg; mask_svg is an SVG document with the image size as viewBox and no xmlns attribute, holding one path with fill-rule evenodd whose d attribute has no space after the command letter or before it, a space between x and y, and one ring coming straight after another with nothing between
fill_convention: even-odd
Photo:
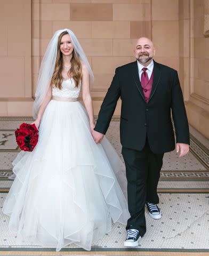
<instances>
[{"instance_id":1,"label":"man's black dress trousers above the sneakers","mask_svg":"<svg viewBox=\"0 0 209 256\"><path fill-rule=\"evenodd\" d=\"M145 203L159 203L157 185L164 154L152 153L147 140L141 151L123 147L122 155L126 166L128 210L131 215L126 229L138 229L143 236L146 233Z\"/></svg>"}]
</instances>

